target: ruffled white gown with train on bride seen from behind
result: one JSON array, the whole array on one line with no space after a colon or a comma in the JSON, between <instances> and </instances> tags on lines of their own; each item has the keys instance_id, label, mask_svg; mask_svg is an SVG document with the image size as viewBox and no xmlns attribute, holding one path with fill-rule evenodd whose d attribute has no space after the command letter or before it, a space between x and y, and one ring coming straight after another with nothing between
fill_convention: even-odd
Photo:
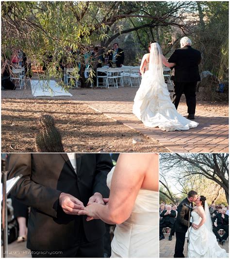
<instances>
[{"instance_id":1,"label":"ruffled white gown with train on bride seen from behind","mask_svg":"<svg viewBox=\"0 0 230 259\"><path fill-rule=\"evenodd\" d=\"M189 130L197 127L197 122L190 121L177 112L164 83L164 75L160 72L162 69L157 69L159 74L154 77L148 67L147 64L147 71L134 98L133 114L145 126L159 127L164 131Z\"/></svg>"}]
</instances>

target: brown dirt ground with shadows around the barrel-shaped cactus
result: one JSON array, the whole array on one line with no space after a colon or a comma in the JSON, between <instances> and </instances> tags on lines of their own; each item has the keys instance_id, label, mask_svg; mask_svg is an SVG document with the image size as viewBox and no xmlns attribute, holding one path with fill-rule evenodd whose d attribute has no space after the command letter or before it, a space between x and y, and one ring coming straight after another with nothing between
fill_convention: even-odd
<instances>
[{"instance_id":1,"label":"brown dirt ground with shadows around the barrel-shaped cactus","mask_svg":"<svg viewBox=\"0 0 230 259\"><path fill-rule=\"evenodd\" d=\"M1 100L1 152L35 152L37 119L50 114L65 152L169 152L157 140L118 124L86 104L61 100ZM133 138L138 138L136 144Z\"/></svg>"}]
</instances>

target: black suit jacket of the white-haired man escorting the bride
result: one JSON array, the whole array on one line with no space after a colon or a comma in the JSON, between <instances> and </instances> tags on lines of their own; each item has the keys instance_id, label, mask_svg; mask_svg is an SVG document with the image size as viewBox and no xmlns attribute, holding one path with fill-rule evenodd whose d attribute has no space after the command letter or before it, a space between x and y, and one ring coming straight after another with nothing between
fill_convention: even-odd
<instances>
[{"instance_id":1,"label":"black suit jacket of the white-haired man escorting the bride","mask_svg":"<svg viewBox=\"0 0 230 259\"><path fill-rule=\"evenodd\" d=\"M200 52L191 46L175 50L168 60L168 62L176 63L176 66L172 68L172 80L184 83L200 81L198 68L200 60Z\"/></svg>"}]
</instances>

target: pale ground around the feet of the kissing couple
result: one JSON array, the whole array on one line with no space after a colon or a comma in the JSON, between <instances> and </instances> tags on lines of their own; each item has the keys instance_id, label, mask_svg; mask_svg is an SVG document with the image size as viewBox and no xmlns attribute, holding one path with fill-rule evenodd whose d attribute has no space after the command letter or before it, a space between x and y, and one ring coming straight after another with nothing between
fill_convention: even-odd
<instances>
[{"instance_id":1,"label":"pale ground around the feet of the kissing couple","mask_svg":"<svg viewBox=\"0 0 230 259\"><path fill-rule=\"evenodd\" d=\"M165 239L160 241L160 258L173 258L174 250L175 250L175 243L176 237L173 236L172 241L168 240L169 234L164 234ZM224 248L227 253L229 252L229 241L226 241L224 245L221 245L221 248ZM184 256L187 256L187 238L185 238L184 243Z\"/></svg>"}]
</instances>

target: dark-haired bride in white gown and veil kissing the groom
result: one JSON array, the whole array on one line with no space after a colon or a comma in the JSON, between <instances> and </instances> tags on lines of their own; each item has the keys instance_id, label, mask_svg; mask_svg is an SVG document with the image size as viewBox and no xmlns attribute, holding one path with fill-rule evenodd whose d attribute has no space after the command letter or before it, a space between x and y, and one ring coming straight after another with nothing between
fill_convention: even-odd
<instances>
[{"instance_id":1,"label":"dark-haired bride in white gown and veil kissing the groom","mask_svg":"<svg viewBox=\"0 0 230 259\"><path fill-rule=\"evenodd\" d=\"M212 220L206 198L199 196L191 212L192 223L189 233L188 258L227 258L229 254L222 249L213 233Z\"/></svg>"}]
</instances>

